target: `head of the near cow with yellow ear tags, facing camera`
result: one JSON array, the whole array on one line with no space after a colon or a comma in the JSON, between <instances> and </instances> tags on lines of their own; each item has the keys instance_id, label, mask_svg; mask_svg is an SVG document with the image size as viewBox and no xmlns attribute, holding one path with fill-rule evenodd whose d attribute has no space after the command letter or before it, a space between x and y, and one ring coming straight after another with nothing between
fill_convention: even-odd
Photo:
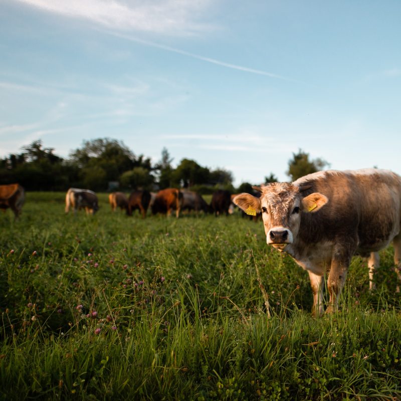
<instances>
[{"instance_id":1,"label":"head of the near cow with yellow ear tags, facing camera","mask_svg":"<svg viewBox=\"0 0 401 401\"><path fill-rule=\"evenodd\" d=\"M309 188L310 185L274 182L254 187L261 192L260 197L241 193L233 202L249 214L262 212L267 243L283 250L298 234L301 213L315 213L328 202L327 197L318 192L304 196L302 192Z\"/></svg>"}]
</instances>

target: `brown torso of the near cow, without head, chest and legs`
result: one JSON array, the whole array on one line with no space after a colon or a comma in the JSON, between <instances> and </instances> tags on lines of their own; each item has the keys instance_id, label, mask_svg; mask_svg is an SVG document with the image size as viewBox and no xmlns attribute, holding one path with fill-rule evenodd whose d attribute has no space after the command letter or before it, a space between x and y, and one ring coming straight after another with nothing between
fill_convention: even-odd
<instances>
[{"instance_id":1,"label":"brown torso of the near cow, without head, chest and legs","mask_svg":"<svg viewBox=\"0 0 401 401\"><path fill-rule=\"evenodd\" d=\"M399 233L401 177L391 171L328 170L306 175L294 184L310 185L302 191L304 196L320 192L329 199L319 213L302 214L300 235L307 243L352 235L358 252L365 254L386 247ZM308 224L312 220L313 230Z\"/></svg>"}]
</instances>

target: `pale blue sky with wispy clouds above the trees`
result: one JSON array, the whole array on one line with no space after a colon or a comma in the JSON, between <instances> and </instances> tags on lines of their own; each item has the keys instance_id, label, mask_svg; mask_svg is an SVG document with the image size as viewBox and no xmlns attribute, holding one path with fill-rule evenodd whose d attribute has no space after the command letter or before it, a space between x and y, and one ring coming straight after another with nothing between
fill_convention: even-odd
<instances>
[{"instance_id":1,"label":"pale blue sky with wispy clouds above the trees","mask_svg":"<svg viewBox=\"0 0 401 401\"><path fill-rule=\"evenodd\" d=\"M136 155L288 181L299 149L401 174L401 2L2 0L0 157Z\"/></svg>"}]
</instances>

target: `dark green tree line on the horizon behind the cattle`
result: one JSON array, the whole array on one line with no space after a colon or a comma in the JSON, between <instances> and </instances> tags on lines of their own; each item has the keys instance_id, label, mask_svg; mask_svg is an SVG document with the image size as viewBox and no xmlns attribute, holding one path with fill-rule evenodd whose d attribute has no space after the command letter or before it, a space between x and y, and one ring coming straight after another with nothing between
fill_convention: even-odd
<instances>
[{"instance_id":1,"label":"dark green tree line on the horizon behind the cattle","mask_svg":"<svg viewBox=\"0 0 401 401\"><path fill-rule=\"evenodd\" d=\"M0 159L0 184L19 182L27 190L38 191L64 191L69 187L95 191L168 187L191 188L199 193L216 189L233 193L252 191L249 182L234 187L233 174L224 168L210 169L187 158L174 168L166 148L156 163L143 154L135 155L122 141L110 138L84 141L68 158L55 154L54 148L44 147L40 139L21 149L20 153ZM327 165L320 158L310 160L309 154L299 149L288 161L286 173L295 180ZM265 182L277 180L274 173L265 177Z\"/></svg>"}]
</instances>

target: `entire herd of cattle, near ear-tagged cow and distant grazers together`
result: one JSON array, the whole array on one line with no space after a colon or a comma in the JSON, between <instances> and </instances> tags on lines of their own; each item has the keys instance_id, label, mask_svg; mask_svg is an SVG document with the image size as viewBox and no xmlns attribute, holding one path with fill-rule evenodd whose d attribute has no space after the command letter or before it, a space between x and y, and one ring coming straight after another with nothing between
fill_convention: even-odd
<instances>
[{"instance_id":1,"label":"entire herd of cattle, near ear-tagged cow and distant grazers together","mask_svg":"<svg viewBox=\"0 0 401 401\"><path fill-rule=\"evenodd\" d=\"M320 171L294 182L274 182L254 187L258 195L231 195L218 190L208 205L199 194L176 188L158 192L133 191L109 195L113 211L125 210L131 216L139 210L143 218L151 213L178 218L182 211L203 211L215 216L230 212L233 204L247 215L262 216L266 242L289 254L308 274L313 292L314 315L323 309L324 278L330 299L326 313L337 309L353 255L367 258L370 289L379 266L378 251L390 242L394 246L397 273L396 290L401 284L401 177L376 168L346 171ZM19 184L0 185L0 209L10 208L16 218L24 204L24 188ZM85 209L98 211L98 198L88 189L70 188L66 194L66 213Z\"/></svg>"}]
</instances>

